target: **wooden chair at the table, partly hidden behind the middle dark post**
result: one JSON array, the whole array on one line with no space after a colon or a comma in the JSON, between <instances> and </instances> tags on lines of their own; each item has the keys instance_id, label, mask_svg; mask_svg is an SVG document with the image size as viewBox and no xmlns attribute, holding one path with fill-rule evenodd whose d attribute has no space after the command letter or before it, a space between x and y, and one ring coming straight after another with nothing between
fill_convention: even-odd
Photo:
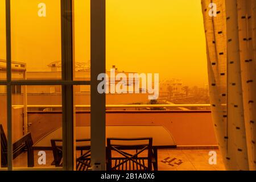
<instances>
[{"instance_id":1,"label":"wooden chair at the table, partly hidden behind the middle dark post","mask_svg":"<svg viewBox=\"0 0 256 182\"><path fill-rule=\"evenodd\" d=\"M56 167L63 166L62 142L63 142L62 139L51 139L52 152L53 152L53 158L54 158L54 162L52 164L54 164ZM82 142L90 142L90 139L76 140L76 143L82 143ZM88 171L88 168L90 167L90 146L88 145L79 146L77 144L76 149L81 152L80 156L76 158L77 171Z\"/></svg>"}]
</instances>

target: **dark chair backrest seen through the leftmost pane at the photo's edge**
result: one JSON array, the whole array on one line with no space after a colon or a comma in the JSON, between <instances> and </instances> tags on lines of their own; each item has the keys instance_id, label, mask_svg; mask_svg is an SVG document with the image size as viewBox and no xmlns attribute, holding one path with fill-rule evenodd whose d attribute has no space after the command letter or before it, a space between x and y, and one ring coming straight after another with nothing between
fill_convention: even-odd
<instances>
[{"instance_id":1,"label":"dark chair backrest seen through the leftmost pane at the photo's edge","mask_svg":"<svg viewBox=\"0 0 256 182\"><path fill-rule=\"evenodd\" d=\"M0 124L1 135L1 166L7 167L7 138L3 126Z\"/></svg>"}]
</instances>

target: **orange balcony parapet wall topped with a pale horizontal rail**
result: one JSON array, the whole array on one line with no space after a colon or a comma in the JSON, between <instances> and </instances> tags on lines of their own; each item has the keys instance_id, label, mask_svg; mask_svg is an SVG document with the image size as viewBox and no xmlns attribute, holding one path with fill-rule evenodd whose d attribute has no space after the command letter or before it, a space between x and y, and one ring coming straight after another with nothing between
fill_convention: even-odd
<instances>
[{"instance_id":1,"label":"orange balcony parapet wall topped with a pale horizontal rail","mask_svg":"<svg viewBox=\"0 0 256 182\"><path fill-rule=\"evenodd\" d=\"M90 126L90 105L75 106L76 125ZM170 109L145 110L145 108L155 107ZM188 110L188 107L195 109ZM13 108L17 109L15 113L20 113L16 116L21 117L20 119L15 117L13 125L20 125L21 133L23 130L30 131L35 142L50 131L61 127L61 105L13 105ZM215 146L217 144L210 104L106 105L106 108L106 125L108 126L164 126L174 135L179 146ZM20 121L23 121L23 125Z\"/></svg>"}]
</instances>

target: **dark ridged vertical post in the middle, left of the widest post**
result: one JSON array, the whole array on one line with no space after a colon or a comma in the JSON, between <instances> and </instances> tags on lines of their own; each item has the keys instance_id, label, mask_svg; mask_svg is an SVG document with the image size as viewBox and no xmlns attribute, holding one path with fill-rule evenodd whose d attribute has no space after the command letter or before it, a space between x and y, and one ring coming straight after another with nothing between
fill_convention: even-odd
<instances>
[{"instance_id":1,"label":"dark ridged vertical post in the middle, left of the widest post","mask_svg":"<svg viewBox=\"0 0 256 182\"><path fill-rule=\"evenodd\" d=\"M61 0L61 72L62 80L73 80L72 0ZM73 85L62 85L63 169L73 170Z\"/></svg>"}]
</instances>

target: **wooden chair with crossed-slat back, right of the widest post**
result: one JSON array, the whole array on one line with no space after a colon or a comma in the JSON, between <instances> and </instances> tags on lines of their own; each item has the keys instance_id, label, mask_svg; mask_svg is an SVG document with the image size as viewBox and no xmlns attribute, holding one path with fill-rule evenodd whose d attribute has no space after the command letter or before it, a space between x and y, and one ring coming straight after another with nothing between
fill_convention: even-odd
<instances>
[{"instance_id":1,"label":"wooden chair with crossed-slat back, right of the widest post","mask_svg":"<svg viewBox=\"0 0 256 182\"><path fill-rule=\"evenodd\" d=\"M112 156L112 151L119 156ZM106 155L108 171L151 171L152 138L108 138Z\"/></svg>"}]
</instances>

